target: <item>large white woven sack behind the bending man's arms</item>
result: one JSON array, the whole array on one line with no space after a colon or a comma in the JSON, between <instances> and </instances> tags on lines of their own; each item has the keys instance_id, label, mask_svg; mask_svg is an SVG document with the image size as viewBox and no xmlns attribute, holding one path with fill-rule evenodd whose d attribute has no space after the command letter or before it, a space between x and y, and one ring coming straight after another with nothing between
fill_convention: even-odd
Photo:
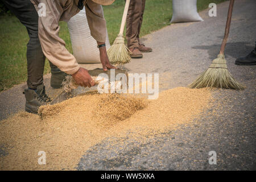
<instances>
[{"instance_id":1,"label":"large white woven sack behind the bending man's arms","mask_svg":"<svg viewBox=\"0 0 256 182\"><path fill-rule=\"evenodd\" d=\"M85 7L68 21L73 55L77 63L101 63L96 40L90 35ZM108 31L106 32L106 49L110 47Z\"/></svg>"}]
</instances>

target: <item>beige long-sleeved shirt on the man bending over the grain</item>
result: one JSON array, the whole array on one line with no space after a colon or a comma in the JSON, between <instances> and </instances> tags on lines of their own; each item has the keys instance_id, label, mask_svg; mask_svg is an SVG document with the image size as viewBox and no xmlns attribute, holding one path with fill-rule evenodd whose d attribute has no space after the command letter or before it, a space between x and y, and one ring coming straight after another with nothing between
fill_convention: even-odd
<instances>
[{"instance_id":1,"label":"beige long-sleeved shirt on the man bending over the grain","mask_svg":"<svg viewBox=\"0 0 256 182\"><path fill-rule=\"evenodd\" d=\"M72 16L79 13L80 9L77 7L79 0L30 1L41 13L38 20L38 35L44 55L61 71L69 75L76 73L80 67L76 58L65 48L64 40L59 37L59 21L68 22ZM106 21L101 5L92 0L85 0L84 6L91 35L98 42L105 42ZM44 7L46 14L43 14Z\"/></svg>"}]
</instances>

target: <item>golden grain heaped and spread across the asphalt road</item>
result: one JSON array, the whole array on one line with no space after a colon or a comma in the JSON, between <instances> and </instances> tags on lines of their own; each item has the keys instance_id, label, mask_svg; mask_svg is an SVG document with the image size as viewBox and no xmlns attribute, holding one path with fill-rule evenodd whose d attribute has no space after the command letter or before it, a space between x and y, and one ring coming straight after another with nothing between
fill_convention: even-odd
<instances>
[{"instance_id":1,"label":"golden grain heaped and spread across the asphalt road","mask_svg":"<svg viewBox=\"0 0 256 182\"><path fill-rule=\"evenodd\" d=\"M40 107L41 116L21 112L0 122L1 170L74 170L85 151L103 139L154 135L199 117L212 96L207 89L175 88L147 101L131 95L86 93ZM46 152L46 165L38 152Z\"/></svg>"}]
</instances>

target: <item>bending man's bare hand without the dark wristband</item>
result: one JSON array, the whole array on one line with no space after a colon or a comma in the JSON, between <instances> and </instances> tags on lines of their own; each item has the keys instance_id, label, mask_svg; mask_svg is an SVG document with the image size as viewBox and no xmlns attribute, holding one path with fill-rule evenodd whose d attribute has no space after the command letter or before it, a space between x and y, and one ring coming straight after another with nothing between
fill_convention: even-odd
<instances>
[{"instance_id":1,"label":"bending man's bare hand without the dark wristband","mask_svg":"<svg viewBox=\"0 0 256 182\"><path fill-rule=\"evenodd\" d=\"M72 77L80 86L88 86L90 88L95 85L95 81L90 77L87 69L80 68L79 71L72 75Z\"/></svg>"}]
</instances>

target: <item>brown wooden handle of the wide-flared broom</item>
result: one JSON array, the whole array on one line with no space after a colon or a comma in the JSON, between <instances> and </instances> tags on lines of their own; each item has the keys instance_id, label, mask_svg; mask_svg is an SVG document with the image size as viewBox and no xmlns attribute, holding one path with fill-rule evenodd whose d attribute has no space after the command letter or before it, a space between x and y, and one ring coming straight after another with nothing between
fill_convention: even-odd
<instances>
[{"instance_id":1,"label":"brown wooden handle of the wide-flared broom","mask_svg":"<svg viewBox=\"0 0 256 182\"><path fill-rule=\"evenodd\" d=\"M229 36L229 28L230 28L230 23L231 23L231 18L232 18L233 7L234 7L234 0L230 0L228 18L226 19L225 35L224 35L224 39L223 39L222 44L221 44L220 55L224 55L224 50L225 50L225 47L226 47L226 41L228 40L228 36Z\"/></svg>"}]
</instances>

